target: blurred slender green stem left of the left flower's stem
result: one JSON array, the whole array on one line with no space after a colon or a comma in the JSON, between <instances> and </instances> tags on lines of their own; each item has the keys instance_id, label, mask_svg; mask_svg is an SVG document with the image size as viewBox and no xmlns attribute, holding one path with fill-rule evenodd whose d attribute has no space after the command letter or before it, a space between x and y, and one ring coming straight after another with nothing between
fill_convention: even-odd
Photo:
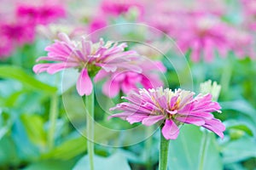
<instances>
[{"instance_id":1,"label":"blurred slender green stem left of the left flower's stem","mask_svg":"<svg viewBox=\"0 0 256 170\"><path fill-rule=\"evenodd\" d=\"M54 146L54 143L55 143L55 127L56 127L56 119L58 115L59 115L58 95L53 94L50 99L50 108L49 108L49 133L48 133L49 150Z\"/></svg>"}]
</instances>

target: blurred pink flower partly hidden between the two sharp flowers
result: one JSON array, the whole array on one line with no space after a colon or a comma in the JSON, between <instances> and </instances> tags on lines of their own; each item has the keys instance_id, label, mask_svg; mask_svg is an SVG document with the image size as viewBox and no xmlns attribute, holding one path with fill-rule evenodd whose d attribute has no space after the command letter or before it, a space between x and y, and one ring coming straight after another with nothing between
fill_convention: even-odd
<instances>
[{"instance_id":1,"label":"blurred pink flower partly hidden between the two sharp flowers","mask_svg":"<svg viewBox=\"0 0 256 170\"><path fill-rule=\"evenodd\" d=\"M142 68L142 72L122 71L119 69L111 73L102 70L96 75L96 82L108 77L107 82L104 83L102 88L103 94L113 98L119 94L119 91L128 94L139 85L147 89L163 85L159 74L160 72L165 72L166 67L160 61L149 61L148 59L141 58L134 62L135 65Z\"/></svg>"}]
</instances>

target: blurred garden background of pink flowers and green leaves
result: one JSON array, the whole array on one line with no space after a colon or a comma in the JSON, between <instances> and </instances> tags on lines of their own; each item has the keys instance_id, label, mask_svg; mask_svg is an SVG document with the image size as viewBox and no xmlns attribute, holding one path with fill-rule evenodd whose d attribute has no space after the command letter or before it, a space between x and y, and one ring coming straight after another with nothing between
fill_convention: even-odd
<instances>
[{"instance_id":1,"label":"blurred garden background of pink flowers and green leaves","mask_svg":"<svg viewBox=\"0 0 256 170\"><path fill-rule=\"evenodd\" d=\"M166 88L198 93L209 79L221 85L222 114L214 116L226 126L224 139L184 125L170 143L169 169L255 170L255 31L254 0L0 0L0 169L89 169L75 83L61 81L61 73L32 71L47 54L44 48L65 32L72 39L90 35L93 42L131 40L127 50L166 67L160 76ZM96 122L111 129L137 127L108 121L108 108L125 92L109 99L103 83L96 84ZM132 140L144 133L153 135ZM122 134L96 127L95 138L96 169L157 169L158 130Z\"/></svg>"}]
</instances>

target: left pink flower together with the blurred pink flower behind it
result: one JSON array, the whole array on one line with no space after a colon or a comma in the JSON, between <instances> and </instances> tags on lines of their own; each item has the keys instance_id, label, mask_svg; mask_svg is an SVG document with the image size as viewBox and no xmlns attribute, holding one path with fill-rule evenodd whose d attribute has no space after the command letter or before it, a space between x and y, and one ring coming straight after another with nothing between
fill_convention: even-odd
<instances>
[{"instance_id":1,"label":"left pink flower together with the blurred pink flower behind it","mask_svg":"<svg viewBox=\"0 0 256 170\"><path fill-rule=\"evenodd\" d=\"M105 43L103 40L93 43L84 38L81 41L73 41L64 33L59 37L60 40L45 48L48 56L38 59L56 62L35 65L33 71L54 74L71 67L79 69L77 90L80 95L91 93L93 85L90 78L95 76L96 81L110 76L103 88L103 93L109 97L114 97L120 89L128 93L131 88L136 88L137 83L145 88L161 84L156 72L165 71L165 67L160 62L148 65L137 52L125 51L126 43Z\"/></svg>"}]
</instances>

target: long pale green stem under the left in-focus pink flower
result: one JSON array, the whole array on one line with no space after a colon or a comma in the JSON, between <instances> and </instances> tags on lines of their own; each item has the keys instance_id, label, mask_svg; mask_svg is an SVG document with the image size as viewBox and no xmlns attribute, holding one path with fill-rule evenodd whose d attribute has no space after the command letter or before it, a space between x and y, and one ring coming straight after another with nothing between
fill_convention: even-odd
<instances>
[{"instance_id":1,"label":"long pale green stem under the left in-focus pink flower","mask_svg":"<svg viewBox=\"0 0 256 170\"><path fill-rule=\"evenodd\" d=\"M90 160L90 170L94 169L94 90L90 95L85 96L85 107L87 109L86 119L87 119L87 149Z\"/></svg>"}]
</instances>

